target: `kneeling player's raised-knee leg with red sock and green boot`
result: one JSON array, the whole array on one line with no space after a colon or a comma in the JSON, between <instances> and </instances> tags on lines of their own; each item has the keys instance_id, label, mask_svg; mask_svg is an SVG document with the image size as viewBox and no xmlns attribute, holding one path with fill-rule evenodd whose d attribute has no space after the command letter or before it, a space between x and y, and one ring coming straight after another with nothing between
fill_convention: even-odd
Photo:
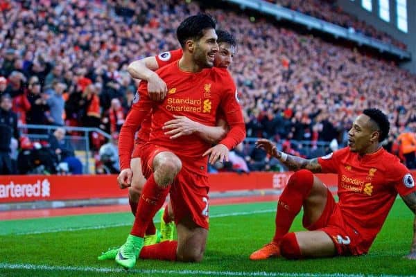
<instances>
[{"instance_id":1,"label":"kneeling player's raised-knee leg with red sock and green boot","mask_svg":"<svg viewBox=\"0 0 416 277\"><path fill-rule=\"evenodd\" d=\"M152 164L153 174L142 190L132 231L116 256L116 262L126 268L135 265L148 223L162 208L170 185L182 168L182 162L175 154L158 148L152 150L147 160Z\"/></svg>"}]
</instances>

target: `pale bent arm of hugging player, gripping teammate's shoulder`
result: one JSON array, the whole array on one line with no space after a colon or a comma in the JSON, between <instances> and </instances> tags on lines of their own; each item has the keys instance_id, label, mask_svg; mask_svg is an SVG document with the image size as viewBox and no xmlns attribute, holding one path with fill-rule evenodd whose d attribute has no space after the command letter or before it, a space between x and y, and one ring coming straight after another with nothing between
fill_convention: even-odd
<instances>
[{"instance_id":1,"label":"pale bent arm of hugging player, gripping teammate's shoulder","mask_svg":"<svg viewBox=\"0 0 416 277\"><path fill-rule=\"evenodd\" d=\"M164 80L155 71L159 69L156 57L145 57L128 65L127 71L135 79L148 82L148 94L151 100L163 100L168 91Z\"/></svg>"}]
</instances>

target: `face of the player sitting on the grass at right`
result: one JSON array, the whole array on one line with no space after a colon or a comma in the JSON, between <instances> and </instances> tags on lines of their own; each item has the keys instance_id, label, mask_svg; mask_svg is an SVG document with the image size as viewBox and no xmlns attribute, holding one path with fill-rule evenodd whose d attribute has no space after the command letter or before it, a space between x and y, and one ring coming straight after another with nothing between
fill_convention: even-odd
<instances>
[{"instance_id":1,"label":"face of the player sitting on the grass at right","mask_svg":"<svg viewBox=\"0 0 416 277\"><path fill-rule=\"evenodd\" d=\"M348 132L348 146L352 152L365 154L367 149L374 142L374 129L370 122L370 117L361 114L352 123L352 128Z\"/></svg>"}]
</instances>

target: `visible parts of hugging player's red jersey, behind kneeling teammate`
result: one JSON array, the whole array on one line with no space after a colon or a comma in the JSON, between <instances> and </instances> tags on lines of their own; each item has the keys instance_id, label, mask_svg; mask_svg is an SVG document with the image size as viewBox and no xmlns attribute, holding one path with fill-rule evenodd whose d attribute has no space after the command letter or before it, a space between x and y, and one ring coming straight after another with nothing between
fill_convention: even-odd
<instances>
[{"instance_id":1,"label":"visible parts of hugging player's red jersey, behind kneeling teammate","mask_svg":"<svg viewBox=\"0 0 416 277\"><path fill-rule=\"evenodd\" d=\"M159 69L161 69L163 66L166 66L168 64L171 64L172 62L176 62L182 57L182 54L184 51L182 51L182 48L168 51L164 53L160 53L156 56L156 62L159 66ZM138 95L136 96L138 99ZM149 140L149 134L150 134L150 125L151 125L151 115L148 114L146 118L144 118L143 122L141 123L139 132L137 132L137 138L135 143L146 143Z\"/></svg>"}]
</instances>

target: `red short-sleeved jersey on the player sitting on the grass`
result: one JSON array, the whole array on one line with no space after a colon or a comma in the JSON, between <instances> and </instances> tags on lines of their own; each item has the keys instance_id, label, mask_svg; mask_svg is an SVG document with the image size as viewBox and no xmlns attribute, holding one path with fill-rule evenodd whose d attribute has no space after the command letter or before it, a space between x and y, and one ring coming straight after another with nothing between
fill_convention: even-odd
<instances>
[{"instance_id":1,"label":"red short-sleeved jersey on the player sitting on the grass","mask_svg":"<svg viewBox=\"0 0 416 277\"><path fill-rule=\"evenodd\" d=\"M410 171L383 148L363 157L343 148L318 162L322 172L338 174L338 205L345 222L363 238L364 250L379 233L397 193L416 191Z\"/></svg>"}]
</instances>

